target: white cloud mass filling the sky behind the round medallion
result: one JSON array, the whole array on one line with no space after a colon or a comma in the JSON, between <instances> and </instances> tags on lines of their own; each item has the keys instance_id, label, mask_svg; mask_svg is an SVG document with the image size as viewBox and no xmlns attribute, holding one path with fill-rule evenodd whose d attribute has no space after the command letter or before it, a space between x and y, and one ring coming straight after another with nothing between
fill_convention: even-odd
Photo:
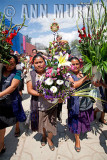
<instances>
[{"instance_id":1,"label":"white cloud mass filling the sky behind the round medallion","mask_svg":"<svg viewBox=\"0 0 107 160\"><path fill-rule=\"evenodd\" d=\"M81 13L81 6L80 6L80 13ZM97 19L97 5L94 3L94 14L95 18ZM103 14L103 9L101 9L101 15ZM88 9L86 6L83 7L83 15L85 18L87 18ZM89 15L90 17L90 15ZM53 34L50 32L50 25L54 21L55 14L48 14L48 18L44 17L38 17L35 19L30 19L29 21L29 27L28 34L31 36L35 35L35 33L38 33L37 38L32 38L31 42L32 44L35 43L42 43L45 46L49 46L49 42L53 41L54 37ZM77 32L77 24L76 21L78 20L78 6L74 7L74 16L71 17L68 16L67 10L64 12L64 18L56 18L55 21L59 24L59 31L58 34L62 35L62 38L64 40L68 40L68 42L71 42L75 39L78 39L78 32ZM39 26L39 29L33 28L32 25ZM83 20L82 18L79 19L78 25L81 28L83 26ZM44 34L45 33L45 34Z\"/></svg>"}]
</instances>

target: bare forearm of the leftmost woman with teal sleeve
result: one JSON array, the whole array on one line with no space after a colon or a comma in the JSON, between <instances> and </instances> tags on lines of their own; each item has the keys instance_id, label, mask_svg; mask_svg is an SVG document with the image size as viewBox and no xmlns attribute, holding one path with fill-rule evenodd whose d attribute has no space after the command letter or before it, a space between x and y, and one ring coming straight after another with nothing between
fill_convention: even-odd
<instances>
[{"instance_id":1,"label":"bare forearm of the leftmost woman with teal sleeve","mask_svg":"<svg viewBox=\"0 0 107 160\"><path fill-rule=\"evenodd\" d=\"M0 97L3 97L7 94L12 93L19 85L20 80L18 79L13 79L11 85L6 88L4 91L0 92Z\"/></svg>"}]
</instances>

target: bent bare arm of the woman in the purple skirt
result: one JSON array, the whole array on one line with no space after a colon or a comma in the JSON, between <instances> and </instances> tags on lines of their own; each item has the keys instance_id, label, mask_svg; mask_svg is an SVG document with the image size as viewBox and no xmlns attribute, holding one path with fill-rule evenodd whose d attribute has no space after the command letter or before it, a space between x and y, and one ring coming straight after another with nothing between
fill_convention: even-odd
<instances>
[{"instance_id":1,"label":"bent bare arm of the woman in the purple skirt","mask_svg":"<svg viewBox=\"0 0 107 160\"><path fill-rule=\"evenodd\" d=\"M69 77L69 81L72 83L71 85L74 88L80 87L87 80L89 80L89 78L87 78L87 76L84 76L83 78L81 78L78 81L74 81L72 77Z\"/></svg>"}]
</instances>

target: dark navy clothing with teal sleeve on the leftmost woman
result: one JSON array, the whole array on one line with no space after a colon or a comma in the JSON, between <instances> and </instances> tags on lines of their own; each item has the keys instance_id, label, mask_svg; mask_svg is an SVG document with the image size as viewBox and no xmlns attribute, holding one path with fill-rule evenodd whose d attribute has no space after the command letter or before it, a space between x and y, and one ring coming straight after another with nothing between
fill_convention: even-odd
<instances>
[{"instance_id":1,"label":"dark navy clothing with teal sleeve on the leftmost woman","mask_svg":"<svg viewBox=\"0 0 107 160\"><path fill-rule=\"evenodd\" d=\"M8 77L2 75L0 91L4 91L11 85L13 79L21 79L21 72L16 69ZM0 129L14 125L17 121L24 122L24 113L18 88L12 93L0 98Z\"/></svg>"}]
</instances>

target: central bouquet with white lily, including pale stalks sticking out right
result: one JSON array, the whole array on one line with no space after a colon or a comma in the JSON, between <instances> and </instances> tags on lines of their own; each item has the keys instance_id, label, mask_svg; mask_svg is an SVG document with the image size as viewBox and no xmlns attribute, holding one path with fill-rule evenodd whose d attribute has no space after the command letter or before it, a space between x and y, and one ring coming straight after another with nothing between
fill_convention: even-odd
<instances>
[{"instance_id":1,"label":"central bouquet with white lily, including pale stalks sticking out right","mask_svg":"<svg viewBox=\"0 0 107 160\"><path fill-rule=\"evenodd\" d=\"M69 76L73 74L71 70L75 67L68 61L68 53L56 52L51 43L51 57L47 60L46 73L36 82L36 90L42 93L48 102L53 103L53 106L58 103L58 99L66 100L70 96L91 97L95 101L101 101L97 95L91 94L92 91L96 92L95 88L72 88Z\"/></svg>"}]
</instances>

